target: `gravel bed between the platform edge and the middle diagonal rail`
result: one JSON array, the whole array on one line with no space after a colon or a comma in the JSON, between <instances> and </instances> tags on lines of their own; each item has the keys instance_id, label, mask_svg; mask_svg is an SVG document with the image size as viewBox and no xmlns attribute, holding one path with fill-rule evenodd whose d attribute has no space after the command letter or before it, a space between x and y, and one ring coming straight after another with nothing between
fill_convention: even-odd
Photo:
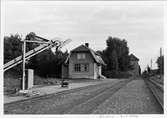
<instances>
[{"instance_id":1,"label":"gravel bed between the platform edge and the middle diagonal rail","mask_svg":"<svg viewBox=\"0 0 167 118\"><path fill-rule=\"evenodd\" d=\"M61 114L74 105L85 102L91 97L103 92L117 82L116 80L108 83L88 86L81 90L73 90L60 95L39 97L38 99L25 100L13 104L4 105L6 114ZM104 87L105 86L105 87Z\"/></svg>"}]
</instances>

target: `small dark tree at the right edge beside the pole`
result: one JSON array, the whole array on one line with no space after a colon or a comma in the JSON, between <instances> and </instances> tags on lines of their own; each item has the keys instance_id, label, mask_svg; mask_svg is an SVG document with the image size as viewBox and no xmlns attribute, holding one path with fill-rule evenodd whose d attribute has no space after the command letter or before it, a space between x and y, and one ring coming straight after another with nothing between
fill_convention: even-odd
<instances>
[{"instance_id":1,"label":"small dark tree at the right edge beside the pole","mask_svg":"<svg viewBox=\"0 0 167 118\"><path fill-rule=\"evenodd\" d=\"M158 57L156 63L158 65L158 73L164 74L164 56Z\"/></svg>"}]
</instances>

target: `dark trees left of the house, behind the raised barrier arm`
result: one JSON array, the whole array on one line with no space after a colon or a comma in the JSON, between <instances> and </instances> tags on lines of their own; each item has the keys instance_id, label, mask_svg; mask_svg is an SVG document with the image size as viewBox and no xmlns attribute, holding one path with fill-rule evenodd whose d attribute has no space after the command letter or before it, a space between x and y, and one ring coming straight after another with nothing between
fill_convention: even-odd
<instances>
[{"instance_id":1,"label":"dark trees left of the house, behind the raised barrier arm","mask_svg":"<svg viewBox=\"0 0 167 118\"><path fill-rule=\"evenodd\" d=\"M35 35L35 33L34 33ZM26 35L26 40L31 40L32 33ZM4 63L22 55L21 35L15 34L4 37ZM26 43L26 52L39 46L37 43ZM26 60L26 68L34 69L35 74L42 77L61 77L61 65L68 56L68 51L57 51L56 55L47 49L34 57ZM22 73L21 64L11 68L8 72Z\"/></svg>"}]
</instances>

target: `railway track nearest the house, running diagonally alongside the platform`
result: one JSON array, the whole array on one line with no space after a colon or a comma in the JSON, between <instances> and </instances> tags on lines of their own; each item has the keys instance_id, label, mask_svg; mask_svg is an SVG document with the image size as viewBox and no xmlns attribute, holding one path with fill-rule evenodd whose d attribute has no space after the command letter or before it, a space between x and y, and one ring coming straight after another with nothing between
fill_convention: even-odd
<instances>
[{"instance_id":1,"label":"railway track nearest the house, running diagonally alongside the platform","mask_svg":"<svg viewBox=\"0 0 167 118\"><path fill-rule=\"evenodd\" d=\"M12 107L14 108L14 106L17 106L20 104L23 104L23 106L24 106L24 104L29 105L28 103L42 102L42 100L58 98L61 95L68 95L68 94L73 94L76 92L80 93L80 92L85 91L85 90L95 89L94 91L90 92L88 95L85 95L81 98L72 100L68 103L57 105L54 108L52 107L46 111L40 112L40 113L44 113L44 114L90 113L101 102L103 102L105 99L110 97L112 94L114 94L117 90L122 88L125 84L127 84L130 81L131 80L120 80L119 82L114 83L114 85L111 85L111 83L91 85L91 86L87 86L87 87L63 91L63 92L60 92L58 94L45 95L45 96L32 98L29 100L17 101L14 103L7 103L4 105L4 108L5 108L4 112L7 114L13 113L13 112L11 112ZM85 109L85 106L87 106L86 109ZM24 107L26 107L26 106L24 106ZM78 111L79 110L78 108L81 108L80 109L81 111ZM26 113L26 114L31 113L32 114L32 112L24 112L24 113ZM39 113L39 112L33 111L33 113Z\"/></svg>"}]
</instances>

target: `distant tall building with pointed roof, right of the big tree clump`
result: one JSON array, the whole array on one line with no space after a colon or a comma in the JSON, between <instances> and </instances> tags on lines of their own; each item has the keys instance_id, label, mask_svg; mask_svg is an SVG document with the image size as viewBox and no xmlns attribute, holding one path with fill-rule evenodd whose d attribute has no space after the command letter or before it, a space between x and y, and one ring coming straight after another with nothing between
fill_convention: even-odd
<instances>
[{"instance_id":1,"label":"distant tall building with pointed roof, right of the big tree clump","mask_svg":"<svg viewBox=\"0 0 167 118\"><path fill-rule=\"evenodd\" d=\"M138 61L139 61L139 59L135 55L133 55L133 54L130 55L130 64L132 66L131 74L133 76L140 75L140 66L139 66Z\"/></svg>"}]
</instances>

